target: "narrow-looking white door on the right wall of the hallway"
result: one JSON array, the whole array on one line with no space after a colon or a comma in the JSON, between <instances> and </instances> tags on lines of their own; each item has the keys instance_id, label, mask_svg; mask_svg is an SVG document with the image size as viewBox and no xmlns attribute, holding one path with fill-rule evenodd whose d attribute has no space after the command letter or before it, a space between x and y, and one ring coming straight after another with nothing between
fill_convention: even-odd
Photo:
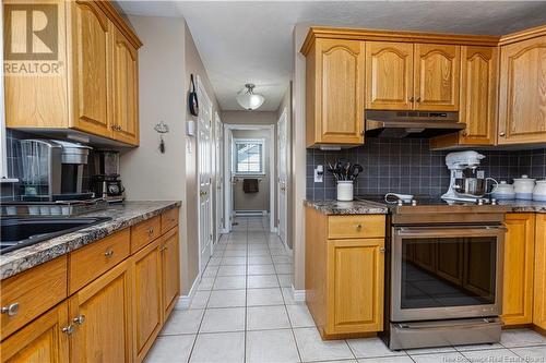
<instances>
[{"instance_id":1,"label":"narrow-looking white door on the right wall of the hallway","mask_svg":"<svg viewBox=\"0 0 546 363\"><path fill-rule=\"evenodd\" d=\"M286 109L284 109L277 124L277 153L278 153L278 180L277 180L277 195L278 195L278 237L285 244L287 244L287 126L286 126Z\"/></svg>"}]
</instances>

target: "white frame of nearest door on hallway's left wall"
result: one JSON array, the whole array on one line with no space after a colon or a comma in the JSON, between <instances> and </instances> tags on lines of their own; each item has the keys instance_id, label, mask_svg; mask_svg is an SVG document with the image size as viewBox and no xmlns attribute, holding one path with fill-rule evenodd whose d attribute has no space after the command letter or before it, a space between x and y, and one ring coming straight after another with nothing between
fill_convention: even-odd
<instances>
[{"instance_id":1,"label":"white frame of nearest door on hallway's left wall","mask_svg":"<svg viewBox=\"0 0 546 363\"><path fill-rule=\"evenodd\" d=\"M202 85L201 83L201 77L197 76L197 80L195 80L195 88L197 88L197 92L201 94L201 96L203 97L206 97L209 104L211 105L211 143L210 143L210 157L211 157L211 170L209 170L209 172L212 173L212 162L214 161L213 160L213 148L212 148L212 141L214 138L214 130L213 130L213 124L214 124L214 114L212 113L212 110L214 109L213 108L213 104L212 104L212 100L211 100L211 97L209 97L209 94L206 93L206 89L205 87ZM202 276L203 271L204 271L204 267L205 266L202 266L202 261L201 261L201 247L202 247L202 243L203 243L203 239L202 239L202 235L201 235L201 218L203 218L203 216L201 216L201 196L199 195L200 192L201 192L201 183L200 183L200 174L201 174L201 168L200 168L200 159L199 159L199 116L198 116L198 119L195 120L195 171L197 171L197 185L198 185L198 202L197 202L197 213L198 213L198 246L199 246L199 253L198 253L198 266L199 266L199 277ZM212 179L212 178L211 178ZM213 220L213 208L212 208L212 198L213 198L213 193L212 193L212 181L209 183L209 191L207 191L209 195L210 195L210 198L211 198L211 208L210 208L210 216L209 216L209 219L211 221L210 223L210 229L211 231L213 231L214 229L214 220ZM211 239L211 256L212 254L214 253L214 235L213 238ZM203 268L202 268L203 267Z\"/></svg>"}]
</instances>

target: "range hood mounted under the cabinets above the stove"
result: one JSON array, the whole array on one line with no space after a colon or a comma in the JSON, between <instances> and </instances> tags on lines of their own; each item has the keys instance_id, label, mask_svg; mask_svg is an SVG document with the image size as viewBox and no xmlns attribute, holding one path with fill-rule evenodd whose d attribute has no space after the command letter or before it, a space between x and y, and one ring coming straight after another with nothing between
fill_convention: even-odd
<instances>
[{"instance_id":1,"label":"range hood mounted under the cabinets above the stove","mask_svg":"<svg viewBox=\"0 0 546 363\"><path fill-rule=\"evenodd\" d=\"M466 128L459 112L366 110L366 135L379 137L432 137Z\"/></svg>"}]
</instances>

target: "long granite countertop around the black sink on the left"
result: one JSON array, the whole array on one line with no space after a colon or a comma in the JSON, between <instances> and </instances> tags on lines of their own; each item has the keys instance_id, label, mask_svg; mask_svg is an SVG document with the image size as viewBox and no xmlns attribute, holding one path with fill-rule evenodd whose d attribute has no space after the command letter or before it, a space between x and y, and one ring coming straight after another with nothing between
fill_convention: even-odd
<instances>
[{"instance_id":1,"label":"long granite countertop around the black sink on the left","mask_svg":"<svg viewBox=\"0 0 546 363\"><path fill-rule=\"evenodd\" d=\"M124 202L119 205L110 205L105 210L81 215L110 217L111 220L1 255L0 280L81 249L118 230L136 225L177 206L180 206L180 202Z\"/></svg>"}]
</instances>

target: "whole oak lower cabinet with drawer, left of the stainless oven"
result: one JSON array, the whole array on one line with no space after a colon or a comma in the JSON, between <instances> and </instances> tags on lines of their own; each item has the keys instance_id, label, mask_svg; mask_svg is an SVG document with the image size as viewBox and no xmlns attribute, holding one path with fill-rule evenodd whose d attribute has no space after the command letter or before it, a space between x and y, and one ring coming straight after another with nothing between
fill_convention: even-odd
<instances>
[{"instance_id":1,"label":"whole oak lower cabinet with drawer, left of the stainless oven","mask_svg":"<svg viewBox=\"0 0 546 363\"><path fill-rule=\"evenodd\" d=\"M345 216L306 208L306 302L323 339L383 330L384 238L376 235L384 233L384 216L346 217L361 226L382 218L381 231L329 239L332 221Z\"/></svg>"}]
</instances>

